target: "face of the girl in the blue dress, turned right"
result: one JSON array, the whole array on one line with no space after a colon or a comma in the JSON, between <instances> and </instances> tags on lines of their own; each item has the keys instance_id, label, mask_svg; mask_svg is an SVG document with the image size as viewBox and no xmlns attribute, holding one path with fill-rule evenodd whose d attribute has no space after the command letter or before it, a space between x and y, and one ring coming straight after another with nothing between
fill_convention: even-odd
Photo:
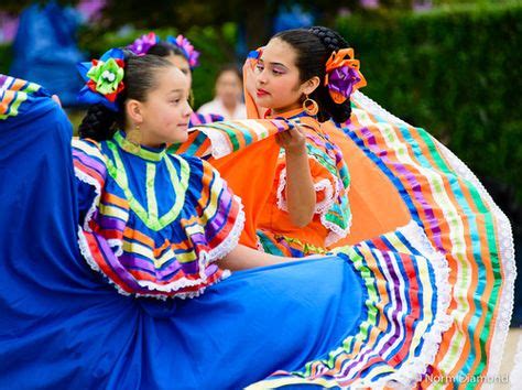
<instances>
[{"instance_id":1,"label":"face of the girl in the blue dress, turned right","mask_svg":"<svg viewBox=\"0 0 522 390\"><path fill-rule=\"evenodd\" d=\"M187 78L178 68L171 66L156 74L155 85L146 100L139 102L141 123L137 124L140 124L142 143L157 147L186 141L192 113L187 101Z\"/></svg>"}]
</instances>

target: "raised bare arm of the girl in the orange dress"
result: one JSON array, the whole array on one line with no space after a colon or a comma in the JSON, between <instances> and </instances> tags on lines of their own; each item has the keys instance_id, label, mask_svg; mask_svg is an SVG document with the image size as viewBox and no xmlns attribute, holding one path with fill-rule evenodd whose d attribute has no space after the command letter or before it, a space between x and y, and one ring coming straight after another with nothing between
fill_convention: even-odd
<instances>
[{"instance_id":1,"label":"raised bare arm of the girl in the orange dress","mask_svg":"<svg viewBox=\"0 0 522 390\"><path fill-rule=\"evenodd\" d=\"M306 138L294 128L278 134L278 142L285 150L286 204L290 219L297 227L308 225L314 217L315 188L306 153Z\"/></svg>"}]
</instances>

